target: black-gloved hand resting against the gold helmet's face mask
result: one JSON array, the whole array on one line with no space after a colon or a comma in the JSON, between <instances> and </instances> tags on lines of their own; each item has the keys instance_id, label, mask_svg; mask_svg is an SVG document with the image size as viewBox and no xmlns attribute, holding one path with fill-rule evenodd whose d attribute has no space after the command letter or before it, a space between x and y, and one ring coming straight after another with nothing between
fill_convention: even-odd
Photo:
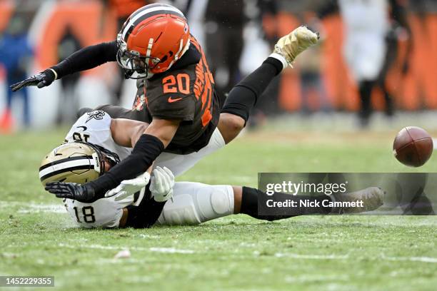
<instances>
[{"instance_id":1,"label":"black-gloved hand resting against the gold helmet's face mask","mask_svg":"<svg viewBox=\"0 0 437 291\"><path fill-rule=\"evenodd\" d=\"M91 203L96 200L94 189L87 184L49 182L46 183L45 189L56 195L57 198L68 198L81 203Z\"/></svg>"}]
</instances>

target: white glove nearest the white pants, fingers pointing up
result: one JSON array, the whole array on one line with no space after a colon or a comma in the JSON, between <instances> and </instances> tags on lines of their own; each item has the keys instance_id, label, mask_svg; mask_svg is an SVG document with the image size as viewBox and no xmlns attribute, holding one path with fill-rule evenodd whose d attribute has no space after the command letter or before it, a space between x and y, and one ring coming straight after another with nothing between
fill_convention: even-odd
<instances>
[{"instance_id":1,"label":"white glove nearest the white pants, fingers pointing up","mask_svg":"<svg viewBox=\"0 0 437 291\"><path fill-rule=\"evenodd\" d=\"M156 167L152 172L150 191L155 201L173 201L174 175L169 168Z\"/></svg>"}]
</instances>

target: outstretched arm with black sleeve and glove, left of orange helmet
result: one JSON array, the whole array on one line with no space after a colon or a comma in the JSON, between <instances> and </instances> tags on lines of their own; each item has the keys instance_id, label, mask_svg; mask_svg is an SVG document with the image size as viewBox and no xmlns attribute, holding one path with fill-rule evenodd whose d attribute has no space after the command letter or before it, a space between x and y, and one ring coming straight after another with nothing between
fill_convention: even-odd
<instances>
[{"instance_id":1,"label":"outstretched arm with black sleeve and glove, left of orange helmet","mask_svg":"<svg viewBox=\"0 0 437 291\"><path fill-rule=\"evenodd\" d=\"M17 91L25 86L37 86L38 88L49 86L56 79L71 73L89 70L108 61L116 61L117 50L116 41L86 46L55 66L11 85L11 89Z\"/></svg>"}]
</instances>

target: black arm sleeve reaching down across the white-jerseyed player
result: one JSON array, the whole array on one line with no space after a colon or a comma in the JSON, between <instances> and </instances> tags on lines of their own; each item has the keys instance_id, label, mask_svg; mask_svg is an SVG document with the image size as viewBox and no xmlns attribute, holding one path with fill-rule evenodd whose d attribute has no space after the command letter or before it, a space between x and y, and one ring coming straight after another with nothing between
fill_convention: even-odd
<instances>
[{"instance_id":1,"label":"black arm sleeve reaching down across the white-jerseyed player","mask_svg":"<svg viewBox=\"0 0 437 291\"><path fill-rule=\"evenodd\" d=\"M103 198L106 191L116 188L122 180L133 179L144 173L163 150L164 143L159 138L143 134L136 142L129 157L101 175L97 180L86 184L91 185L94 189L97 199Z\"/></svg>"}]
</instances>

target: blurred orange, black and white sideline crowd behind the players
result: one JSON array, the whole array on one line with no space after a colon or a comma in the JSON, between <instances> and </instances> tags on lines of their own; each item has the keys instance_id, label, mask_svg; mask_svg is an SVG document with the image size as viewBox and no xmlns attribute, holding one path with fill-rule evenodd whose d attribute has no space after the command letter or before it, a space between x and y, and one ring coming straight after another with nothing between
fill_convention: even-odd
<instances>
[{"instance_id":1,"label":"blurred orange, black and white sideline crowd behind the players","mask_svg":"<svg viewBox=\"0 0 437 291\"><path fill-rule=\"evenodd\" d=\"M51 123L58 124L71 122L82 106L131 106L134 96L118 66L62 78L56 93L12 93L9 85L84 46L115 39L126 18L152 2L184 12L222 94L296 26L320 32L320 44L260 98L253 126L296 111L356 111L359 124L367 126L375 109L390 118L396 109L437 108L437 0L0 0L0 131L15 123L41 124L48 111L41 103L54 103Z\"/></svg>"}]
</instances>

